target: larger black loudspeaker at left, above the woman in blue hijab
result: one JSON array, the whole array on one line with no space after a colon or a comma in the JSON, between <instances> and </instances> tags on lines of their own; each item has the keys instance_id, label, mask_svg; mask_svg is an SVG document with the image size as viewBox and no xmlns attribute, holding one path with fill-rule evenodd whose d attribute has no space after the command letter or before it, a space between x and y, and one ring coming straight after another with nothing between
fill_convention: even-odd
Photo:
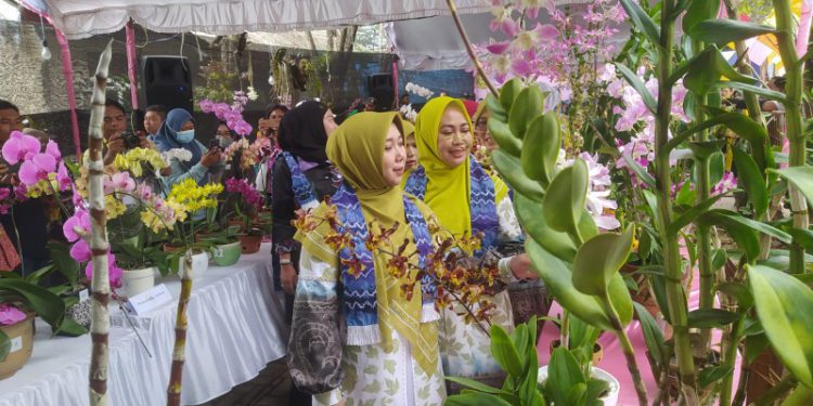
<instances>
[{"instance_id":1,"label":"larger black loudspeaker at left, above the woman in blue hijab","mask_svg":"<svg viewBox=\"0 0 813 406\"><path fill-rule=\"evenodd\" d=\"M192 71L185 56L144 56L141 58L144 106L160 104L192 113Z\"/></svg>"}]
</instances>

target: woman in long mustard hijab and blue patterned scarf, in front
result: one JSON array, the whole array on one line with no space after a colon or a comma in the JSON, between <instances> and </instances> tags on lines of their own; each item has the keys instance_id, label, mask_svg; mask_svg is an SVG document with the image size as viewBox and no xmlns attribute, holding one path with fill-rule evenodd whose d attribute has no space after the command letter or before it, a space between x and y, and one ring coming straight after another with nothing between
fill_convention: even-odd
<instances>
[{"instance_id":1,"label":"woman in long mustard hijab and blue patterned scarf, in front","mask_svg":"<svg viewBox=\"0 0 813 406\"><path fill-rule=\"evenodd\" d=\"M315 404L440 405L446 397L433 287L415 284L406 300L405 279L387 271L391 257L365 244L379 226L398 224L389 240L406 241L405 252L418 253L410 261L418 264L433 251L431 212L400 186L402 129L396 113L360 113L339 126L327 142L327 157L345 184L296 236L302 253L289 369ZM320 221L327 218L332 222ZM338 250L327 243L337 231L350 238Z\"/></svg>"}]
</instances>

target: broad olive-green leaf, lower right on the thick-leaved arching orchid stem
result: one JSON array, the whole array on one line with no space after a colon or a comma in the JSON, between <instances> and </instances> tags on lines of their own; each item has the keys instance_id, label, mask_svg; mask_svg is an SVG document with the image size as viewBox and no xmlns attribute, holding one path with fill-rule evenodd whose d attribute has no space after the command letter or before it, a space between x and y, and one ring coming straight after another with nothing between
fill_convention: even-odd
<instances>
[{"instance_id":1,"label":"broad olive-green leaf, lower right on the thick-leaved arching orchid stem","mask_svg":"<svg viewBox=\"0 0 813 406\"><path fill-rule=\"evenodd\" d=\"M585 241L573 261L573 286L584 294L605 297L612 276L627 262L632 251L635 228L623 233L604 233Z\"/></svg>"}]
</instances>

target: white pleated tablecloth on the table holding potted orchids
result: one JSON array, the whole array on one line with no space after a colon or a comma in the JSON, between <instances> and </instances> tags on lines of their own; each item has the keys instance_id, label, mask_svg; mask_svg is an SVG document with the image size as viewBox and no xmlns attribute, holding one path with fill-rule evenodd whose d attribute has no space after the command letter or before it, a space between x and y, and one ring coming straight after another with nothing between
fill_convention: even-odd
<instances>
[{"instance_id":1,"label":"white pleated tablecloth on the table holding potted orchids","mask_svg":"<svg viewBox=\"0 0 813 406\"><path fill-rule=\"evenodd\" d=\"M193 283L188 307L186 363L182 403L201 404L245 382L286 353L287 330L281 298L271 278L270 246L243 256L228 267L212 266ZM173 298L177 277L163 280ZM112 405L166 404L177 300L140 317L138 326L150 358L118 310L112 311ZM48 339L38 328L31 361L0 381L0 406L88 404L90 337Z\"/></svg>"}]
</instances>

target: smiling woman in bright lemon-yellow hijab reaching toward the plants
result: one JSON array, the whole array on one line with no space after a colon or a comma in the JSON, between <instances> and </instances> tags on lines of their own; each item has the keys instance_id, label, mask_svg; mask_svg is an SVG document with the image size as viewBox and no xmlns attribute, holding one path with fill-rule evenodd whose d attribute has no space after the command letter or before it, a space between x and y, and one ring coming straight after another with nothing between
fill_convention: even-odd
<instances>
[{"instance_id":1,"label":"smiling woman in bright lemon-yellow hijab reaching toward the plants","mask_svg":"<svg viewBox=\"0 0 813 406\"><path fill-rule=\"evenodd\" d=\"M480 235L481 258L505 243L522 240L506 185L491 176L470 156L472 120L460 100L437 97L427 103L415 122L418 162L404 189L423 199L440 225L455 236ZM506 281L535 278L525 253L503 258L500 271ZM508 292L496 293L498 305L491 319L507 330L514 328ZM440 323L440 352L447 376L468 377L501 387L504 372L490 353L490 339L460 312L444 310ZM470 343L473 345L460 345ZM455 388L450 387L454 392Z\"/></svg>"}]
</instances>

